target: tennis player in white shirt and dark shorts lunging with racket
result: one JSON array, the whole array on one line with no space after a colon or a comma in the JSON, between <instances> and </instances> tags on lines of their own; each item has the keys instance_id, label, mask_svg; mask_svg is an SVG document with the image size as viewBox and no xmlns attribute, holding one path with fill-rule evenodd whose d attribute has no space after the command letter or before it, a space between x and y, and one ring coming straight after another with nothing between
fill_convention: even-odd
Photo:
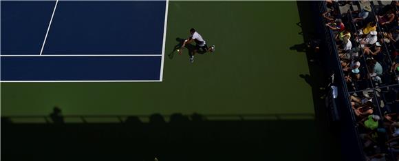
<instances>
[{"instance_id":1,"label":"tennis player in white shirt and dark shorts lunging with racket","mask_svg":"<svg viewBox=\"0 0 399 161\"><path fill-rule=\"evenodd\" d=\"M203 52L214 52L215 51L215 45L212 45L211 47L208 47L206 45L206 41L204 41L204 39L202 39L202 36L195 31L195 29L191 28L190 29L190 34L191 36L188 37L188 39L186 39L182 45L182 49L183 47L188 44L188 43L192 43L193 41L195 41L196 45L195 45L195 50L193 51L193 54L190 55L190 62L193 63L194 62L194 55L195 53L198 52L198 50L202 50Z\"/></svg>"}]
</instances>

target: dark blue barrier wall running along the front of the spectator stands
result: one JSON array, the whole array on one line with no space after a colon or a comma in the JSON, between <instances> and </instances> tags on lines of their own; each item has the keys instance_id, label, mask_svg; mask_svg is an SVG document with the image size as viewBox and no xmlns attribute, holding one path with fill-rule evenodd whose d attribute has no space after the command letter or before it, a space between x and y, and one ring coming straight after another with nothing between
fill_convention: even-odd
<instances>
[{"instance_id":1,"label":"dark blue barrier wall running along the front of the spectator stands","mask_svg":"<svg viewBox=\"0 0 399 161\"><path fill-rule=\"evenodd\" d=\"M338 57L336 43L334 39L334 33L330 28L325 27L327 23L321 14L327 10L325 1L317 1L317 8L319 13L317 19L320 21L320 28L323 28L323 45L325 53L323 53L323 63L326 67L327 72L334 74L335 82L334 85L337 87L338 98L336 98L336 107L338 108L338 114L340 114L340 121L336 122L341 127L341 143L342 143L342 155L343 160L365 160L363 154L363 145L361 144L360 138L358 138L358 130L355 127L356 118L354 118L354 112L349 101L349 93L341 67L341 62Z\"/></svg>"}]
</instances>

